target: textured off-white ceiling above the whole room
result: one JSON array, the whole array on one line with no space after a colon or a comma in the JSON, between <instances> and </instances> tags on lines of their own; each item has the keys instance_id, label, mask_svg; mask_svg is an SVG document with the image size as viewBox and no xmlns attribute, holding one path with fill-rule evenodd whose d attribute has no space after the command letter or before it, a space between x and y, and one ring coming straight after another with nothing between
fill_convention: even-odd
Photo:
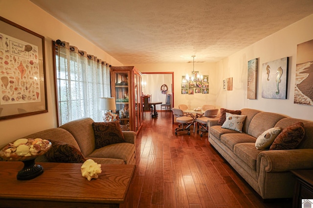
<instances>
[{"instance_id":1,"label":"textured off-white ceiling above the whole room","mask_svg":"<svg viewBox=\"0 0 313 208\"><path fill-rule=\"evenodd\" d=\"M124 64L216 62L313 14L313 0L31 1Z\"/></svg>"}]
</instances>

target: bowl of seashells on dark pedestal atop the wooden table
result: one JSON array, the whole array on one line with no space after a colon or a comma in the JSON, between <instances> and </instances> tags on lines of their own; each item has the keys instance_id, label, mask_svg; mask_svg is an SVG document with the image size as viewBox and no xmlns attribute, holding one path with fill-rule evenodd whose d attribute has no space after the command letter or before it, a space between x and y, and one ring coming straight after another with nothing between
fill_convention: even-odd
<instances>
[{"instance_id":1,"label":"bowl of seashells on dark pedestal atop the wooden table","mask_svg":"<svg viewBox=\"0 0 313 208\"><path fill-rule=\"evenodd\" d=\"M7 144L0 151L0 157L6 161L22 161L24 167L18 172L18 180L30 180L44 172L41 165L35 164L36 157L45 154L51 142L45 139L18 139Z\"/></svg>"}]
</instances>

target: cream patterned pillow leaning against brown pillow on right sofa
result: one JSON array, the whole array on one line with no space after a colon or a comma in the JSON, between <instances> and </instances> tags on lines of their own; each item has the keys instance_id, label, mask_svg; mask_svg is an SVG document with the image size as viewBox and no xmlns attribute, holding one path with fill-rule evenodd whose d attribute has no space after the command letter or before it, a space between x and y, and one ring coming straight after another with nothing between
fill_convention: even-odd
<instances>
[{"instance_id":1,"label":"cream patterned pillow leaning against brown pillow on right sofa","mask_svg":"<svg viewBox=\"0 0 313 208\"><path fill-rule=\"evenodd\" d=\"M268 149L281 131L282 129L280 127L274 127L263 132L255 141L256 149L257 150Z\"/></svg>"}]
</instances>

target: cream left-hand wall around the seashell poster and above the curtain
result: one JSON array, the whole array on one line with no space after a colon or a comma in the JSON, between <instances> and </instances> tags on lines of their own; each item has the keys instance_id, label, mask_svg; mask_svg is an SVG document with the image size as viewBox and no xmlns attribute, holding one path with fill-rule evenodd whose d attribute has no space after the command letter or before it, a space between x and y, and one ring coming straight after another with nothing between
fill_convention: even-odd
<instances>
[{"instance_id":1,"label":"cream left-hand wall around the seashell poster and above the curtain","mask_svg":"<svg viewBox=\"0 0 313 208\"><path fill-rule=\"evenodd\" d=\"M48 113L0 121L0 147L27 134L57 126L52 62L52 40L65 40L71 45L75 45L79 49L99 57L112 65L122 65L122 63L109 56L106 52L100 50L86 38L83 38L74 31L70 30L67 26L48 15L45 11L28 0L0 0L0 16L45 37L46 84L48 100Z\"/></svg>"}]
</instances>

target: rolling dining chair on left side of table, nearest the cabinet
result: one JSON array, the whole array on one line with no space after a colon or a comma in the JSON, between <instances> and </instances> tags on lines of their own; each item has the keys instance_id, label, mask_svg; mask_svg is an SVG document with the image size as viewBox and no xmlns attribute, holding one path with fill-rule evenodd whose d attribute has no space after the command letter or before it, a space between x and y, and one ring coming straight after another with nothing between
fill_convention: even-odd
<instances>
[{"instance_id":1,"label":"rolling dining chair on left side of table, nearest the cabinet","mask_svg":"<svg viewBox=\"0 0 313 208\"><path fill-rule=\"evenodd\" d=\"M192 113L184 114L184 112L178 108L173 108L172 111L176 117L176 122L181 124L181 128L179 126L176 127L175 134L177 135L179 131L187 131L188 135L190 135L190 126L195 122L194 115ZM187 125L186 128L184 128L184 124Z\"/></svg>"}]
</instances>

